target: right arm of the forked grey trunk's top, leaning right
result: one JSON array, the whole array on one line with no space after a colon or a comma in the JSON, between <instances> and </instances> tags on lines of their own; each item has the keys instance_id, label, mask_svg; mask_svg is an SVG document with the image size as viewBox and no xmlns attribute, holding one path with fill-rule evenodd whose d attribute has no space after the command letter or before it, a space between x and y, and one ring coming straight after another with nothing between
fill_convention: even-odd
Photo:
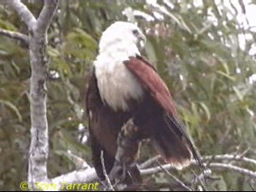
<instances>
[{"instance_id":1,"label":"right arm of the forked grey trunk's top, leaning right","mask_svg":"<svg viewBox=\"0 0 256 192\"><path fill-rule=\"evenodd\" d=\"M54 13L58 6L58 0L45 0L43 9L38 17L38 32L40 34L45 34L48 27L50 26L50 21L54 16Z\"/></svg>"}]
</instances>

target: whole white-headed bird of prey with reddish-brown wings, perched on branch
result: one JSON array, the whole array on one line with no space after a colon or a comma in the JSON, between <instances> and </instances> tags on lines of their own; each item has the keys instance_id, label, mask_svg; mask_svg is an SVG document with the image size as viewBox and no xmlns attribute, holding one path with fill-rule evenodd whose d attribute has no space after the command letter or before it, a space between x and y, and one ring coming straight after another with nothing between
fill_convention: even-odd
<instances>
[{"instance_id":1,"label":"whole white-headed bird of prey with reddish-brown wings, perched on branch","mask_svg":"<svg viewBox=\"0 0 256 192\"><path fill-rule=\"evenodd\" d=\"M99 40L86 89L92 162L101 180L110 174L122 126L130 119L170 165L182 169L200 154L178 118L175 103L157 70L140 53L146 36L132 22L114 22ZM139 149L134 149L139 150ZM139 153L139 151L138 151ZM138 154L131 156L134 162Z\"/></svg>"}]
</instances>

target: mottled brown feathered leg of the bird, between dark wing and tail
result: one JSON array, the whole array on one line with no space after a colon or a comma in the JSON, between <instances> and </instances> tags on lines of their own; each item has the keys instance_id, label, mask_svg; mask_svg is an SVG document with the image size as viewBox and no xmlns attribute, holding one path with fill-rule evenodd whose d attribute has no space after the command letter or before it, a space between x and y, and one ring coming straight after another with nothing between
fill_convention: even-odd
<instances>
[{"instance_id":1,"label":"mottled brown feathered leg of the bird, between dark wing and tail","mask_svg":"<svg viewBox=\"0 0 256 192\"><path fill-rule=\"evenodd\" d=\"M138 139L138 127L134 125L133 119L122 126L122 130L118 134L117 144L118 149L114 166L110 172L110 180L115 181L118 178L118 182L120 182L126 178L134 160L138 158L138 150L141 146Z\"/></svg>"}]
</instances>

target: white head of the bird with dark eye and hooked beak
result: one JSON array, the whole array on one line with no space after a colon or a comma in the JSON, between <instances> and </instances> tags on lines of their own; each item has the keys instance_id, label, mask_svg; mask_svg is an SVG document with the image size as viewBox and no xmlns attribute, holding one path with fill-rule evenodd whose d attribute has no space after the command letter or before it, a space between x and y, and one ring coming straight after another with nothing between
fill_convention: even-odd
<instances>
[{"instance_id":1,"label":"white head of the bird with dark eye and hooked beak","mask_svg":"<svg viewBox=\"0 0 256 192\"><path fill-rule=\"evenodd\" d=\"M110 50L111 46L118 45L119 49L125 50L136 48L141 42L146 42L142 31L131 22L114 22L103 33L99 42L99 53Z\"/></svg>"}]
</instances>

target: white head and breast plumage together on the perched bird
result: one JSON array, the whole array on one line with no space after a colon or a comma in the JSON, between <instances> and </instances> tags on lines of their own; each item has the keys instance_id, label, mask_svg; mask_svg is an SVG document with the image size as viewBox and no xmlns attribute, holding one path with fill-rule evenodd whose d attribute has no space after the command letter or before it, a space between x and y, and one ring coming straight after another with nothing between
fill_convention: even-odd
<instances>
[{"instance_id":1,"label":"white head and breast plumage together on the perched bird","mask_svg":"<svg viewBox=\"0 0 256 192\"><path fill-rule=\"evenodd\" d=\"M141 41L146 41L145 36L130 22L114 22L102 34L94 61L95 75L102 101L113 110L128 110L127 98L142 98L142 86L123 62L140 55Z\"/></svg>"}]
</instances>

